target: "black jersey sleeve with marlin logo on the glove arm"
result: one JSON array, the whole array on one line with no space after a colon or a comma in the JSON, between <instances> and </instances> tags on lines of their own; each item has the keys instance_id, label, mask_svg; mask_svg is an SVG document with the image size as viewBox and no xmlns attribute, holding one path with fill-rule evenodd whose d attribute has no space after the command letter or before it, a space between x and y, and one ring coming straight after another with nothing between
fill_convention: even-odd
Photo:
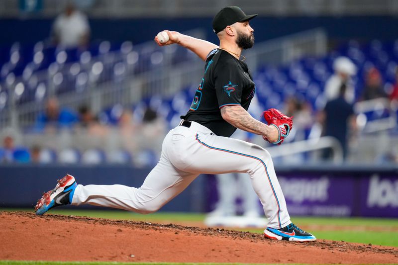
<instances>
[{"instance_id":1,"label":"black jersey sleeve with marlin logo on the glove arm","mask_svg":"<svg viewBox=\"0 0 398 265\"><path fill-rule=\"evenodd\" d=\"M217 67L214 88L219 108L241 104L242 75L239 67L234 63L219 65Z\"/></svg>"}]
</instances>

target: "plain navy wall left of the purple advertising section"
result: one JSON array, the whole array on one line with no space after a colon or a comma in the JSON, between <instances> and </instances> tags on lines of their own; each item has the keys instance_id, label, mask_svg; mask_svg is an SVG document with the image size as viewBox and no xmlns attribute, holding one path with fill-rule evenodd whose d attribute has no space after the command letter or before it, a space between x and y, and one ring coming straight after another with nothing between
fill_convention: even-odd
<instances>
[{"instance_id":1,"label":"plain navy wall left of the purple advertising section","mask_svg":"<svg viewBox=\"0 0 398 265\"><path fill-rule=\"evenodd\" d=\"M0 167L0 208L34 207L41 194L56 185L56 180L71 174L78 184L122 184L141 186L151 169L129 166L34 166L10 165ZM197 178L173 203L165 205L163 211L203 211L200 201L204 178ZM68 206L70 207L70 206ZM73 206L75 208L75 206ZM82 206L80 206L82 207ZM85 207L85 206L83 206ZM76 207L77 208L77 207ZM96 206L87 208L100 209ZM102 208L104 209L104 208Z\"/></svg>"}]
</instances>

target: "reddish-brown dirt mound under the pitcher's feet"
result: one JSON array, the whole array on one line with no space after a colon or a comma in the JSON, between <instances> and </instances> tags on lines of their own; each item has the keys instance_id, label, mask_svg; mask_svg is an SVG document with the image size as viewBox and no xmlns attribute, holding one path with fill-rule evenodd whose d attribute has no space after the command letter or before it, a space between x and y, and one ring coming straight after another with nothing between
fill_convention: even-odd
<instances>
[{"instance_id":1,"label":"reddish-brown dirt mound under the pitcher's feet","mask_svg":"<svg viewBox=\"0 0 398 265\"><path fill-rule=\"evenodd\" d=\"M398 248L318 240L271 241L249 232L0 212L0 260L192 263L398 263Z\"/></svg>"}]
</instances>

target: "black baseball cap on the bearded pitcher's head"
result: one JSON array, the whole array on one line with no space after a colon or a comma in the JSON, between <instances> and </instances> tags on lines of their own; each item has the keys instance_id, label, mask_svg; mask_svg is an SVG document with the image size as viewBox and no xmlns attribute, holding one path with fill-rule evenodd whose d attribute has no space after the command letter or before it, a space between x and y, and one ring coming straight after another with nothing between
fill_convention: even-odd
<instances>
[{"instance_id":1,"label":"black baseball cap on the bearded pitcher's head","mask_svg":"<svg viewBox=\"0 0 398 265\"><path fill-rule=\"evenodd\" d=\"M224 7L213 18L213 31L217 34L226 26L236 22L248 21L257 15L246 15L238 6Z\"/></svg>"}]
</instances>

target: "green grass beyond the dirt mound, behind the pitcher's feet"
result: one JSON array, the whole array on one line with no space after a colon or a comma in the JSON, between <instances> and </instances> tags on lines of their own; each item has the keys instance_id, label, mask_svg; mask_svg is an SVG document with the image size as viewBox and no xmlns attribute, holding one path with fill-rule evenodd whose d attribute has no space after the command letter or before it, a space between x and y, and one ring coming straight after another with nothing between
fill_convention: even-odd
<instances>
[{"instance_id":1,"label":"green grass beyond the dirt mound, behind the pitcher's feet","mask_svg":"<svg viewBox=\"0 0 398 265\"><path fill-rule=\"evenodd\" d=\"M5 211L32 211L33 209L2 209ZM133 221L147 221L156 223L173 222L202 222L205 214L198 213L170 213L158 212L147 215L131 213L118 210L82 210L82 209L54 209L53 214L89 216L107 219L123 219ZM381 218L336 218L336 217L293 217L292 221L298 226L336 226L337 231L310 230L318 239L344 240L346 242L356 242L364 244L382 245L398 247L398 220ZM188 223L189 225L189 223ZM355 230L358 226L372 226L375 228L387 230L381 232L369 230ZM240 229L242 231L251 231L254 233L263 233L262 229Z\"/></svg>"}]
</instances>

